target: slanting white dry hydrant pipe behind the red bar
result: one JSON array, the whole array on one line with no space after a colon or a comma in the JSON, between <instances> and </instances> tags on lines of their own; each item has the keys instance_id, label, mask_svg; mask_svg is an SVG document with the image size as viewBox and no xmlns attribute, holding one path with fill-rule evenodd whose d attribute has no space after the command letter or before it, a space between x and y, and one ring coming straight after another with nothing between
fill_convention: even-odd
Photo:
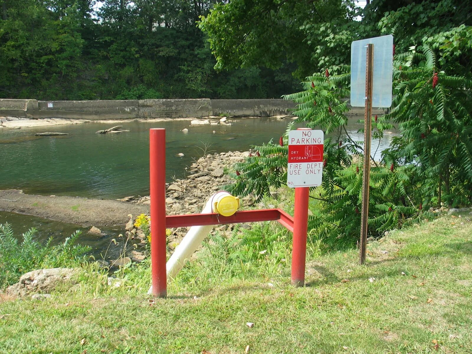
<instances>
[{"instance_id":1,"label":"slanting white dry hydrant pipe behind the red bar","mask_svg":"<svg viewBox=\"0 0 472 354\"><path fill-rule=\"evenodd\" d=\"M213 194L205 204L202 214L209 214L215 212L214 202L219 198L231 195L226 191L219 191ZM186 233L182 242L177 245L174 253L170 256L166 263L167 279L174 279L178 272L184 268L185 263L190 259L192 254L197 250L198 246L202 244L206 236L211 232L214 225L192 226ZM148 294L152 294L152 286L148 290Z\"/></svg>"}]
</instances>

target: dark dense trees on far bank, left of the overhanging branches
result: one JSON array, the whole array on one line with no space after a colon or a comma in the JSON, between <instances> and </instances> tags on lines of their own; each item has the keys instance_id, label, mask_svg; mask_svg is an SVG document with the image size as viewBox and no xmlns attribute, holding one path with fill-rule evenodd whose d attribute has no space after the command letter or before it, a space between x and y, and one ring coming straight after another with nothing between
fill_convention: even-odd
<instances>
[{"instance_id":1,"label":"dark dense trees on far bank, left of the overhanging branches","mask_svg":"<svg viewBox=\"0 0 472 354\"><path fill-rule=\"evenodd\" d=\"M279 98L288 62L217 73L199 16L215 0L3 0L0 97Z\"/></svg>"}]
</instances>

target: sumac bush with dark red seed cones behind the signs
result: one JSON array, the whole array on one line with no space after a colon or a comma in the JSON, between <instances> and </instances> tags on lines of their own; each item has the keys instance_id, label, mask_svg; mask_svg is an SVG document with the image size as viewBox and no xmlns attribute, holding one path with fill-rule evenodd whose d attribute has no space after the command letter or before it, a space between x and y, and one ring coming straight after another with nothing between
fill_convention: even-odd
<instances>
[{"instance_id":1,"label":"sumac bush with dark red seed cones behind the signs","mask_svg":"<svg viewBox=\"0 0 472 354\"><path fill-rule=\"evenodd\" d=\"M471 83L445 73L427 46L395 56L394 101L388 114L372 117L372 146L387 129L399 135L372 157L369 234L432 218L431 207L471 201ZM270 187L287 181L287 134L296 125L325 132L323 182L311 188L316 200L309 217L310 235L327 245L355 244L359 237L362 197L362 143L349 135L345 97L349 97L349 67L334 67L303 82L304 91L285 96L295 101L295 122L287 127L284 146L270 141L253 148L256 155L236 164L230 173L231 193L253 194L256 201ZM434 87L433 87L434 86ZM432 102L432 103L431 103ZM361 120L360 122L363 122ZM362 130L361 130L362 131ZM441 199L442 198L442 199Z\"/></svg>"}]
</instances>

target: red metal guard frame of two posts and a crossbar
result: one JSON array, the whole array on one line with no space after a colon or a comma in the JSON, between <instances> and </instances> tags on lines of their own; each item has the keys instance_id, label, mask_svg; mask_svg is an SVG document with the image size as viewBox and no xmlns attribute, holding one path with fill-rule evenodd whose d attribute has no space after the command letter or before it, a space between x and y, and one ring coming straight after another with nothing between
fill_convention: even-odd
<instances>
[{"instance_id":1,"label":"red metal guard frame of two posts and a crossbar","mask_svg":"<svg viewBox=\"0 0 472 354\"><path fill-rule=\"evenodd\" d=\"M227 217L217 213L166 215L166 130L162 128L150 129L149 138L152 295L156 297L167 296L166 228L271 220L278 221L293 232L291 283L296 287L303 287L309 187L295 188L293 218L280 209L237 211Z\"/></svg>"}]
</instances>

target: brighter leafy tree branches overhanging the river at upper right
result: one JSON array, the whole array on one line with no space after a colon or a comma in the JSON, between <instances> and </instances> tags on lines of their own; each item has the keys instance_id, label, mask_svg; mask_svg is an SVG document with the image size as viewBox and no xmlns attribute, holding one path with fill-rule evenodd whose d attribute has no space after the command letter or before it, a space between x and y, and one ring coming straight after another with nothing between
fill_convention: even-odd
<instances>
[{"instance_id":1,"label":"brighter leafy tree branches overhanging the river at upper right","mask_svg":"<svg viewBox=\"0 0 472 354\"><path fill-rule=\"evenodd\" d=\"M232 0L215 6L200 28L218 68L293 62L296 77L347 64L353 40L393 34L397 52L425 36L472 25L472 3L461 0ZM360 20L362 19L362 20Z\"/></svg>"}]
</instances>

